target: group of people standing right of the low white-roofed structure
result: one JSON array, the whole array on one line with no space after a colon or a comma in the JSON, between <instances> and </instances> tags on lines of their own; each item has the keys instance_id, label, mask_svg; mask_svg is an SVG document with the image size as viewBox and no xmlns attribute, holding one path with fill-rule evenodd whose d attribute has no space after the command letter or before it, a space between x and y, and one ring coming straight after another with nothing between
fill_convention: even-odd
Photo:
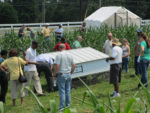
<instances>
[{"instance_id":1,"label":"group of people standing right of the low white-roofed structure","mask_svg":"<svg viewBox=\"0 0 150 113\"><path fill-rule=\"evenodd\" d=\"M148 87L147 69L150 62L150 40L141 29L137 30L137 42L134 47L135 54L135 74L141 75L141 82ZM122 45L122 48L120 47ZM122 44L119 39L113 38L112 33L108 33L108 40L105 41L103 52L109 58L110 63L110 83L114 85L113 97L119 97L119 83L121 82L121 72L125 68L128 73L128 63L130 56L130 46L127 39L122 39ZM141 84L138 84L138 88Z\"/></svg>"}]
</instances>

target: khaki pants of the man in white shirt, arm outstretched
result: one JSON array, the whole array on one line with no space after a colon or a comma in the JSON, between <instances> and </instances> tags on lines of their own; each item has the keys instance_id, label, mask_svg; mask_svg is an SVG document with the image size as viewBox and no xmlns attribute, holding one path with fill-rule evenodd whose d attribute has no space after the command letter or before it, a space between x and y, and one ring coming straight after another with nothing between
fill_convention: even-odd
<instances>
[{"instance_id":1,"label":"khaki pants of the man in white shirt, arm outstretched","mask_svg":"<svg viewBox=\"0 0 150 113\"><path fill-rule=\"evenodd\" d=\"M33 79L34 87L35 87L36 92L38 94L43 94L41 83L40 83L40 78L38 76L37 71L26 71L24 74L25 74L25 77L27 78L27 82L24 85L25 86L30 86L31 81ZM27 96L27 95L28 95L28 91L25 90L25 96Z\"/></svg>"}]
</instances>

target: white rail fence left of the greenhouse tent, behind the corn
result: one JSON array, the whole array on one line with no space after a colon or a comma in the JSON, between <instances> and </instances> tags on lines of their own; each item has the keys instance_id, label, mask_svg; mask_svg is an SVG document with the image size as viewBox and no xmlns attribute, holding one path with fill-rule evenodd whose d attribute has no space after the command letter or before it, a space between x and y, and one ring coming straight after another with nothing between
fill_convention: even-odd
<instances>
[{"instance_id":1,"label":"white rail fence left of the greenhouse tent, behind the corn","mask_svg":"<svg viewBox=\"0 0 150 113\"><path fill-rule=\"evenodd\" d=\"M57 23L48 23L49 28L57 28L59 24L63 25L65 31L71 31L72 28L81 27L82 22L57 22ZM15 32L18 32L19 28L25 25L26 27L31 27L36 31L40 31L45 23L30 23L30 24L0 24L0 36L2 36L6 32L10 32L14 29Z\"/></svg>"}]
</instances>

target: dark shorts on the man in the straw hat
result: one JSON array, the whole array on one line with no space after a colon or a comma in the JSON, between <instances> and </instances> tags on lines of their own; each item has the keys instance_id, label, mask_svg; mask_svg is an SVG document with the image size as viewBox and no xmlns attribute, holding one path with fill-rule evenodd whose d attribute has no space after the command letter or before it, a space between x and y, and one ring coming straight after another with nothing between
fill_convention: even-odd
<instances>
[{"instance_id":1,"label":"dark shorts on the man in the straw hat","mask_svg":"<svg viewBox=\"0 0 150 113\"><path fill-rule=\"evenodd\" d=\"M118 84L121 82L122 64L110 65L110 84Z\"/></svg>"}]
</instances>

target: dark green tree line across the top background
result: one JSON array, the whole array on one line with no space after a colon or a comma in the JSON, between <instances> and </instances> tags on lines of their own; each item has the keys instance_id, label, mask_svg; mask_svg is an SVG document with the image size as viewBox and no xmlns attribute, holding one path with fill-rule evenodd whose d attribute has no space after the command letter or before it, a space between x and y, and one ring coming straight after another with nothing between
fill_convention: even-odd
<instances>
[{"instance_id":1,"label":"dark green tree line across the top background","mask_svg":"<svg viewBox=\"0 0 150 113\"><path fill-rule=\"evenodd\" d=\"M82 21L103 6L123 6L150 19L148 0L6 0L0 2L0 24Z\"/></svg>"}]
</instances>

